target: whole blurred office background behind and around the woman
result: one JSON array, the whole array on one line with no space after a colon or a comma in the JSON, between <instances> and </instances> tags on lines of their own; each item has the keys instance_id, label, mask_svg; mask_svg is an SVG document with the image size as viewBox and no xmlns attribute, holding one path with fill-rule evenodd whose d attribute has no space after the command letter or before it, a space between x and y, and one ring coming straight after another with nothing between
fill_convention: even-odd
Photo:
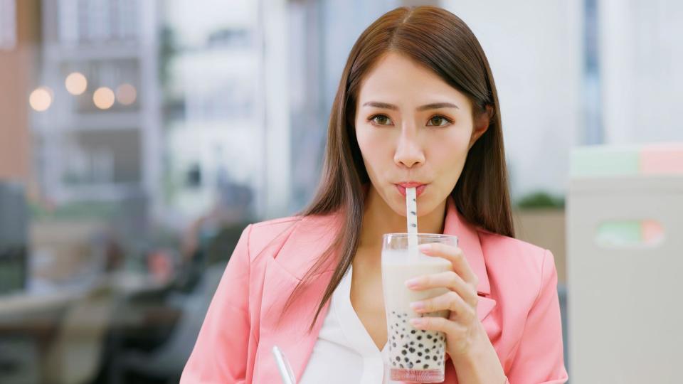
<instances>
[{"instance_id":1,"label":"whole blurred office background behind and around the woman","mask_svg":"<svg viewBox=\"0 0 683 384\"><path fill-rule=\"evenodd\" d=\"M0 382L176 383L241 230L312 197L354 41L422 4L487 53L572 377L565 202L573 180L641 185L647 149L683 164L679 1L0 0ZM657 239L648 214L598 240Z\"/></svg>"}]
</instances>

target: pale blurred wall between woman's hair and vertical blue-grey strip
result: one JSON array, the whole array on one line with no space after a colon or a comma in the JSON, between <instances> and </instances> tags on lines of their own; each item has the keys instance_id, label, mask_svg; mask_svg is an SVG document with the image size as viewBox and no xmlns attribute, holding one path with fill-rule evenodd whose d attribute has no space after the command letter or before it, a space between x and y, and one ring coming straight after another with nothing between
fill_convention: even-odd
<instances>
[{"instance_id":1,"label":"pale blurred wall between woman's hair and vertical blue-grey strip","mask_svg":"<svg viewBox=\"0 0 683 384\"><path fill-rule=\"evenodd\" d=\"M563 195L583 123L583 1L444 0L484 49L496 82L513 198Z\"/></svg>"}]
</instances>

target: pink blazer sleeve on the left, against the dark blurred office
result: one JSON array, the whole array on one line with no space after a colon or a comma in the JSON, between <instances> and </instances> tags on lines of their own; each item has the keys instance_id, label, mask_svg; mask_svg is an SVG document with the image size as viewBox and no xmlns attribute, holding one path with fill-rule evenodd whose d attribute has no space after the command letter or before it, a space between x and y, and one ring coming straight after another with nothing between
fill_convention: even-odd
<instances>
[{"instance_id":1,"label":"pink blazer sleeve on the left, against the dark blurred office","mask_svg":"<svg viewBox=\"0 0 683 384\"><path fill-rule=\"evenodd\" d=\"M243 230L206 312L181 384L244 383L249 338L251 225Z\"/></svg>"}]
</instances>

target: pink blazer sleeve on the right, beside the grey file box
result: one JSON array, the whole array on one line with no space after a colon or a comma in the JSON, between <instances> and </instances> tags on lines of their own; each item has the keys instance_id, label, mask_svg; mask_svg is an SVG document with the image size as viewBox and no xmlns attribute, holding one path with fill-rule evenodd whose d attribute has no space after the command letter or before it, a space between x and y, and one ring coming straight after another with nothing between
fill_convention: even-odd
<instances>
[{"instance_id":1,"label":"pink blazer sleeve on the right, beside the grey file box","mask_svg":"<svg viewBox=\"0 0 683 384\"><path fill-rule=\"evenodd\" d=\"M568 375L562 346L557 270L553 254L546 250L541 267L541 287L529 310L517 353L507 373L508 383L566 383Z\"/></svg>"}]
</instances>

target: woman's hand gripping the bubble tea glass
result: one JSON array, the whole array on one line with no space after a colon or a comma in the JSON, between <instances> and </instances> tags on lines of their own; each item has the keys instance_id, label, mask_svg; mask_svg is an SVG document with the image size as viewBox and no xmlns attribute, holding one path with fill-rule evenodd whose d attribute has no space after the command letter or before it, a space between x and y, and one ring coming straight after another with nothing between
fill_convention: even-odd
<instances>
[{"instance_id":1,"label":"woman's hand gripping the bubble tea glass","mask_svg":"<svg viewBox=\"0 0 683 384\"><path fill-rule=\"evenodd\" d=\"M420 251L425 255L443 257L453 265L453 270L427 274L406 281L414 290L445 287L449 292L432 299L413 302L411 307L418 314L449 310L448 318L424 316L411 319L417 329L443 331L446 334L446 353L455 361L488 339L481 321L477 317L477 284L479 278L472 271L462 250L452 245L423 244Z\"/></svg>"}]
</instances>

